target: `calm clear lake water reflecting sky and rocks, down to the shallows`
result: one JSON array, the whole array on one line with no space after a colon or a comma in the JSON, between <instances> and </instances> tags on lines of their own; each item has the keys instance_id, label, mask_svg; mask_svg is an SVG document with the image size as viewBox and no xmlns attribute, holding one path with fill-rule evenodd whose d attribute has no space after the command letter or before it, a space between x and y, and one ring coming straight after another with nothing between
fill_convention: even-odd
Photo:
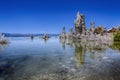
<instances>
[{"instance_id":1,"label":"calm clear lake water reflecting sky and rocks, down to the shallows","mask_svg":"<svg viewBox=\"0 0 120 80\"><path fill-rule=\"evenodd\" d=\"M0 80L120 80L119 42L8 39L0 45Z\"/></svg>"}]
</instances>

